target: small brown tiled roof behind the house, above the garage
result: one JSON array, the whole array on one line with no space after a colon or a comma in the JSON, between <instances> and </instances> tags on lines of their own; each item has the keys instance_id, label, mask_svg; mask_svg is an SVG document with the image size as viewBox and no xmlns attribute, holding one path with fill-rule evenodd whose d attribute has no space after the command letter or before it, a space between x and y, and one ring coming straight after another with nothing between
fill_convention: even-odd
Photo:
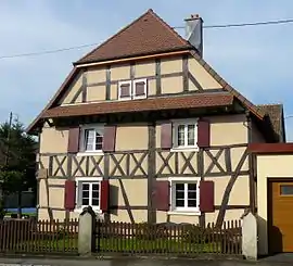
<instances>
[{"instance_id":1,"label":"small brown tiled roof behind the house, above the garage","mask_svg":"<svg viewBox=\"0 0 293 266\"><path fill-rule=\"evenodd\" d=\"M281 136L284 134L283 127L283 104L258 104L258 110L268 116L269 123L273 129L273 132L278 138L284 138Z\"/></svg>"}]
</instances>

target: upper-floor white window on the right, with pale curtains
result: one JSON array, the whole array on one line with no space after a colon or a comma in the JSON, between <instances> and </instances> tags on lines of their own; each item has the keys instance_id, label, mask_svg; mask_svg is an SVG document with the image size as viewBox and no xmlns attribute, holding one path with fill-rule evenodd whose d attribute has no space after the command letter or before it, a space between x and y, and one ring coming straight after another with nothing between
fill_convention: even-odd
<instances>
[{"instance_id":1,"label":"upper-floor white window on the right, with pale curtains","mask_svg":"<svg viewBox=\"0 0 293 266\"><path fill-rule=\"evenodd\" d=\"M174 148L186 149L198 147L198 123L196 121L175 121L174 122Z\"/></svg>"}]
</instances>

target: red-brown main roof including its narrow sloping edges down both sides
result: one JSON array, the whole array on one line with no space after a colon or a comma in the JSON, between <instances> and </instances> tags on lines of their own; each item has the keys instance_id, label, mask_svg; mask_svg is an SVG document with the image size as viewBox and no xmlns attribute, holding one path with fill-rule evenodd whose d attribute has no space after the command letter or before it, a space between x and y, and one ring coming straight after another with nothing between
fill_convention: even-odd
<instances>
[{"instance_id":1,"label":"red-brown main roof including its narrow sloping edges down both sides","mask_svg":"<svg viewBox=\"0 0 293 266\"><path fill-rule=\"evenodd\" d=\"M145 36L148 38L145 38ZM76 62L78 64L103 61L112 59L133 58L142 55L154 55L164 52L173 52L175 50L183 49L182 52L190 52L193 58L224 87L226 91L231 93L238 99L247 110L250 110L257 118L263 119L264 113L244 98L240 92L232 88L226 80L224 80L209 64L207 64L198 53L194 47L192 47L187 40L180 37L168 24L166 24L160 16L157 16L152 10L149 10L142 16L137 18L130 25L122 29L118 34L114 35L103 45L85 55L82 59ZM102 63L103 63L102 62ZM48 115L51 109L62 110L61 107L54 107L54 104L66 91L68 84L75 78L78 72L82 67L75 66L61 88L58 90L52 100L47 104L37 118L28 126L27 132L33 130L39 125L39 122L43 115ZM111 102L99 104L112 104ZM132 104L132 103L127 103ZM80 110L86 110L84 104L80 104ZM56 111L54 111L56 112Z\"/></svg>"}]
</instances>

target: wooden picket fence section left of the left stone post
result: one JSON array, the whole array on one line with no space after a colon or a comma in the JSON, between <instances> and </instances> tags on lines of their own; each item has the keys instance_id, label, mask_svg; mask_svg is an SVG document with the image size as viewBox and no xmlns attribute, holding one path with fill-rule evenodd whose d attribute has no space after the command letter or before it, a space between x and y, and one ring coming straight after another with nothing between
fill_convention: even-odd
<instances>
[{"instance_id":1,"label":"wooden picket fence section left of the left stone post","mask_svg":"<svg viewBox=\"0 0 293 266\"><path fill-rule=\"evenodd\" d=\"M78 220L0 221L1 253L77 253Z\"/></svg>"}]
</instances>

